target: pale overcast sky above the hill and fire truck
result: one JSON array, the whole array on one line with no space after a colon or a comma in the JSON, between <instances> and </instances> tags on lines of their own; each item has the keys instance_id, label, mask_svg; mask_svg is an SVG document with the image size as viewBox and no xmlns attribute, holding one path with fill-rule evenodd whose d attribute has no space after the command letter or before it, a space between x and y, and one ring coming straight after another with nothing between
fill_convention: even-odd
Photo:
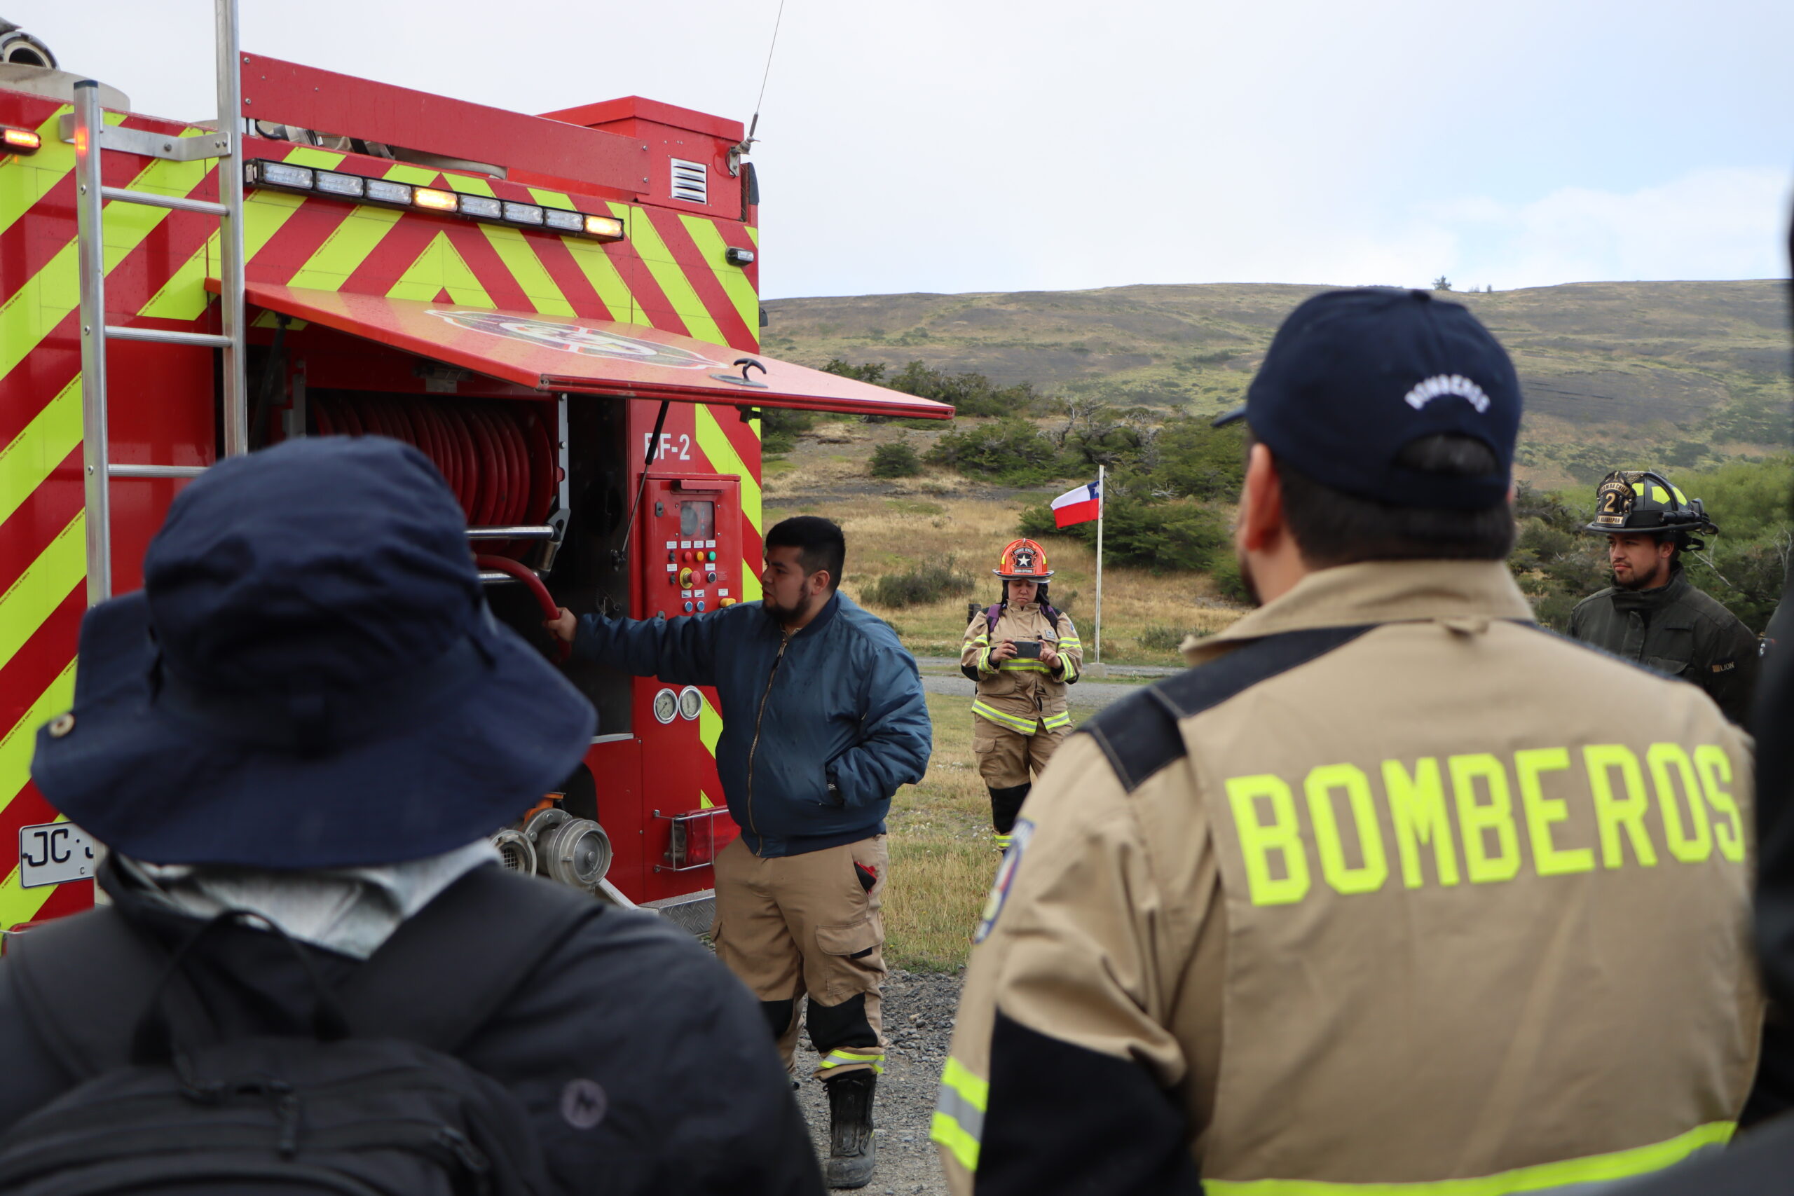
<instances>
[{"instance_id":1,"label":"pale overcast sky above the hill and fire truck","mask_svg":"<svg viewBox=\"0 0 1794 1196\"><path fill-rule=\"evenodd\" d=\"M746 120L779 0L242 0L246 50L518 111ZM205 0L4 0L206 117ZM768 298L1787 273L1790 0L786 0Z\"/></svg>"}]
</instances>

